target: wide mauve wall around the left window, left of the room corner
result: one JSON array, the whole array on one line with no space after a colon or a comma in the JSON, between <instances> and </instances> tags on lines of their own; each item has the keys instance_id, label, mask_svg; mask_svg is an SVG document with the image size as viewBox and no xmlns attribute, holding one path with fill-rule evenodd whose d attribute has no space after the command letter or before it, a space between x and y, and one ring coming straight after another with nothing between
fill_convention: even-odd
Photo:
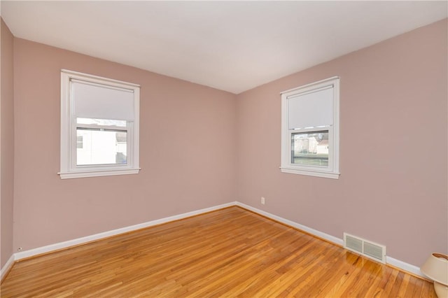
<instances>
[{"instance_id":1,"label":"wide mauve wall around the left window, left of the room corner","mask_svg":"<svg viewBox=\"0 0 448 298\"><path fill-rule=\"evenodd\" d=\"M235 201L236 96L15 38L14 249ZM138 175L61 180L60 69L141 85Z\"/></svg>"}]
</instances>

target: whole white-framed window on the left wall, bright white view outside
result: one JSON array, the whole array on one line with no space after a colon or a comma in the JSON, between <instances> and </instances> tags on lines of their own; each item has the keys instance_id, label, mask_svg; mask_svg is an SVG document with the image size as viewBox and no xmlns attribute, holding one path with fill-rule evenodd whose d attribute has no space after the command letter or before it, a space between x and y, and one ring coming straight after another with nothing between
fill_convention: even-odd
<instances>
[{"instance_id":1,"label":"whole white-framed window on the left wall, bright white view outside","mask_svg":"<svg viewBox=\"0 0 448 298\"><path fill-rule=\"evenodd\" d=\"M62 179L139 173L139 91L61 71Z\"/></svg>"}]
</instances>

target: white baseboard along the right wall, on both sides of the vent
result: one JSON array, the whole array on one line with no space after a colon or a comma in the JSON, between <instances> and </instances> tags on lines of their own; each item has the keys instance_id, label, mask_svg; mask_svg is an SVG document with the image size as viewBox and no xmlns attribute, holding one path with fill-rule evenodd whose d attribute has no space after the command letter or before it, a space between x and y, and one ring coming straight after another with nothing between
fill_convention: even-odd
<instances>
[{"instance_id":1,"label":"white baseboard along the right wall, on both sides of the vent","mask_svg":"<svg viewBox=\"0 0 448 298\"><path fill-rule=\"evenodd\" d=\"M337 244L339 246L344 246L344 240L343 239L339 239L339 238L337 238L335 236L331 236L329 234L325 234L325 233L320 232L320 231L318 231L316 229L311 229L311 227L300 225L297 222L293 222L291 220L286 220L285 218L281 218L281 217L279 217L277 215L274 215L272 213L268 213L266 211L262 211L262 210L260 210L258 208L254 208L252 206L248 206L246 204L240 203L239 201L236 201L235 204L237 206L242 207L242 208L246 208L246 209L248 209L250 211L253 211L255 213L263 215L263 216L265 216L267 218L271 218L272 220L276 220L278 222L281 222L281 223L283 223L285 225L289 225L291 227L295 227L297 229L301 229L304 232L307 232L307 233L309 233L311 235L314 235L314 236L318 236L319 238L325 239L326 241L329 241L331 243L335 243L335 244ZM390 264L393 267L397 267L398 269L401 269L402 271L407 271L407 272L409 272L411 274L414 274L416 276L421 276L423 278L427 278L424 274L421 273L419 267L416 267L416 266L414 266L412 264L408 264L406 262L402 262L400 260L394 259L393 257L387 257L386 256L386 264Z\"/></svg>"}]
</instances>

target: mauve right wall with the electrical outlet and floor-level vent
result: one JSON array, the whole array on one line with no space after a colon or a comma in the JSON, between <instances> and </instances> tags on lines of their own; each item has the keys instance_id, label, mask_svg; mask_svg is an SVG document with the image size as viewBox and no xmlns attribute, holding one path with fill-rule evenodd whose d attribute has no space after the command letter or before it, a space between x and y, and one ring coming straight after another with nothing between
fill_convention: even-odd
<instances>
[{"instance_id":1,"label":"mauve right wall with the electrical outlet and floor-level vent","mask_svg":"<svg viewBox=\"0 0 448 298\"><path fill-rule=\"evenodd\" d=\"M447 253L447 63L442 20L239 94L237 199L416 266ZM339 180L281 173L279 92L331 76Z\"/></svg>"}]
</instances>

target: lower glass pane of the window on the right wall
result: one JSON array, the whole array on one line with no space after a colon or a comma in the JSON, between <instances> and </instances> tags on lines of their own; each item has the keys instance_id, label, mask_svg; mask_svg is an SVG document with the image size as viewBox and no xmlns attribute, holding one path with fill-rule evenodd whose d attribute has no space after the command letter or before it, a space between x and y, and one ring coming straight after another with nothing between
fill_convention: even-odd
<instances>
[{"instance_id":1,"label":"lower glass pane of the window on the right wall","mask_svg":"<svg viewBox=\"0 0 448 298\"><path fill-rule=\"evenodd\" d=\"M291 138L293 164L328 166L328 130L297 132Z\"/></svg>"}]
</instances>

